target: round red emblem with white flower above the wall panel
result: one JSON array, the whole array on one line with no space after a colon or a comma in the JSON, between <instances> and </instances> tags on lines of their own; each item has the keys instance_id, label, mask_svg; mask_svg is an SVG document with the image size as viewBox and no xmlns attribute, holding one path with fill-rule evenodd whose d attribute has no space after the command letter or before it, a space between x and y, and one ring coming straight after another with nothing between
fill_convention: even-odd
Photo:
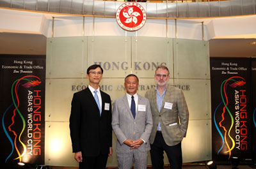
<instances>
[{"instance_id":1,"label":"round red emblem with white flower above the wall panel","mask_svg":"<svg viewBox=\"0 0 256 169\"><path fill-rule=\"evenodd\" d=\"M146 20L146 11L138 3L124 3L116 11L116 21L126 31L137 31Z\"/></svg>"}]
</instances>

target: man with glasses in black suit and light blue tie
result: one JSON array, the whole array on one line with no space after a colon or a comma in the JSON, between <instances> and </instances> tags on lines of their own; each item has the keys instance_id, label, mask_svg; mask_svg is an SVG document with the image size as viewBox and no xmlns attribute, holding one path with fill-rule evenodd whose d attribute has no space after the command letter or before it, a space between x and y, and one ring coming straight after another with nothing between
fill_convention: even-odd
<instances>
[{"instance_id":1,"label":"man with glasses in black suit and light blue tie","mask_svg":"<svg viewBox=\"0 0 256 169\"><path fill-rule=\"evenodd\" d=\"M99 89L102 73L100 65L90 66L88 87L72 99L69 127L79 168L106 168L112 154L111 99Z\"/></svg>"}]
</instances>

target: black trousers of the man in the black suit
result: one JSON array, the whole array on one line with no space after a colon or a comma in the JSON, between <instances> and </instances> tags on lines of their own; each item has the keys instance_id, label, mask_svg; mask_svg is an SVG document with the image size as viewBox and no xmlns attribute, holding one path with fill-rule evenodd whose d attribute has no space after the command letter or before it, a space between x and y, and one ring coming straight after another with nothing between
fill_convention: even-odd
<instances>
[{"instance_id":1,"label":"black trousers of the man in the black suit","mask_svg":"<svg viewBox=\"0 0 256 169\"><path fill-rule=\"evenodd\" d=\"M100 154L95 157L83 156L83 162L79 163L79 169L105 169L108 154Z\"/></svg>"}]
</instances>

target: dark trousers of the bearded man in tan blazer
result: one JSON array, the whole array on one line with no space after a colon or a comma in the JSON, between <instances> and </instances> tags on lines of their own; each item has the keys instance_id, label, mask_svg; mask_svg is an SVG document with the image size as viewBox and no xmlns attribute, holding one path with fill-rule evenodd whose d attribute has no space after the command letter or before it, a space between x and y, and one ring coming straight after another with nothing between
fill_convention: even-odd
<instances>
[{"instance_id":1,"label":"dark trousers of the bearded man in tan blazer","mask_svg":"<svg viewBox=\"0 0 256 169\"><path fill-rule=\"evenodd\" d=\"M150 156L154 169L163 169L164 166L164 151L166 152L171 169L181 169L182 166L182 151L181 142L177 145L169 146L164 142L162 133L156 133L156 138L153 144L150 144Z\"/></svg>"}]
</instances>

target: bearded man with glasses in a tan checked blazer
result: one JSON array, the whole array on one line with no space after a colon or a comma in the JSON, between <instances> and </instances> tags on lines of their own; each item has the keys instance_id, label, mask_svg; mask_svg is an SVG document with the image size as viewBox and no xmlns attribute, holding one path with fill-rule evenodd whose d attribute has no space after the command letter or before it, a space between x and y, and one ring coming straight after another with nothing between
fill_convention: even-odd
<instances>
[{"instance_id":1,"label":"bearded man with glasses in a tan checked blazer","mask_svg":"<svg viewBox=\"0 0 256 169\"><path fill-rule=\"evenodd\" d=\"M150 156L154 169L163 168L163 151L166 152L172 169L181 169L181 141L188 129L189 112L183 92L168 85L170 79L166 66L158 66L156 88L146 92L150 101L153 128L150 135Z\"/></svg>"}]
</instances>

